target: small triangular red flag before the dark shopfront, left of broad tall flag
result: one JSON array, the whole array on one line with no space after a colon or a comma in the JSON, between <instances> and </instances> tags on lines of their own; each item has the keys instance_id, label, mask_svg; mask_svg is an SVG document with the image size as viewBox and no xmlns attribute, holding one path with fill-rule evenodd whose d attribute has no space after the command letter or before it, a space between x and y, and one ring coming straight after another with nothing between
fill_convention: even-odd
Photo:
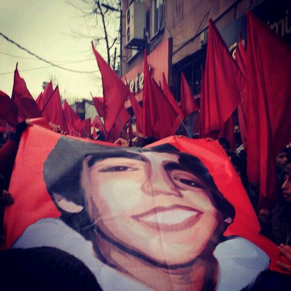
<instances>
[{"instance_id":1,"label":"small triangular red flag before the dark shopfront, left of broad tall flag","mask_svg":"<svg viewBox=\"0 0 291 291\"><path fill-rule=\"evenodd\" d=\"M181 74L180 99L181 108L185 116L199 110L183 72Z\"/></svg>"}]
</instances>

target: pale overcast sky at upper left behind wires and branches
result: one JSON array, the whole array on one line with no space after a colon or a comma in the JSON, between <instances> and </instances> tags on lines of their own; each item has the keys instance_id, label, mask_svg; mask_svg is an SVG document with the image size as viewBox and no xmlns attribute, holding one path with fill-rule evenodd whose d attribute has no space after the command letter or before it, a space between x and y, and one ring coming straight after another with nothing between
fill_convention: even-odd
<instances>
[{"instance_id":1,"label":"pale overcast sky at upper left behind wires and branches","mask_svg":"<svg viewBox=\"0 0 291 291\"><path fill-rule=\"evenodd\" d=\"M0 7L0 32L19 45L52 63L70 69L98 70L91 50L91 40L67 35L72 31L87 33L88 27L79 12L65 0L0 0ZM87 61L64 64L82 60ZM0 36L0 90L9 96L14 75L3 73L14 72L16 62L19 74L26 81L34 98L41 92L42 82L49 81L51 76L58 80L60 91L65 91L65 97L71 100L75 97L90 98L90 92L93 96L102 96L98 72L80 74L49 66ZM25 71L39 67L46 68Z\"/></svg>"}]
</instances>

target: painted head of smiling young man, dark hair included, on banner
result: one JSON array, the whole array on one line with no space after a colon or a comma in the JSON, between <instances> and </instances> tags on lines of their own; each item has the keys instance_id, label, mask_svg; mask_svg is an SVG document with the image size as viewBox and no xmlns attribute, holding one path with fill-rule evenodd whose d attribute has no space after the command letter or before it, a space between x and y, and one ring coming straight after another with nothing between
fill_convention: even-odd
<instances>
[{"instance_id":1,"label":"painted head of smiling young man, dark hair included, on banner","mask_svg":"<svg viewBox=\"0 0 291 291\"><path fill-rule=\"evenodd\" d=\"M104 263L123 273L137 263L165 272L207 270L213 277L197 280L214 289L213 251L235 210L197 157L171 145L104 147L60 138L44 180L61 219L93 243Z\"/></svg>"}]
</instances>

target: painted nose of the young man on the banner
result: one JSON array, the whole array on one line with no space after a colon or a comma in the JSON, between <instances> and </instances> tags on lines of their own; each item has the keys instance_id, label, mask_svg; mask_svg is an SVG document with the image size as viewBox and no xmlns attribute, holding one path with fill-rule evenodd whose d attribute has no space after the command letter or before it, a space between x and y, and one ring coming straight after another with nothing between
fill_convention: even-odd
<instances>
[{"instance_id":1,"label":"painted nose of the young man on the banner","mask_svg":"<svg viewBox=\"0 0 291 291\"><path fill-rule=\"evenodd\" d=\"M152 172L150 177L143 183L142 190L150 196L174 195L183 197L164 169Z\"/></svg>"}]
</instances>

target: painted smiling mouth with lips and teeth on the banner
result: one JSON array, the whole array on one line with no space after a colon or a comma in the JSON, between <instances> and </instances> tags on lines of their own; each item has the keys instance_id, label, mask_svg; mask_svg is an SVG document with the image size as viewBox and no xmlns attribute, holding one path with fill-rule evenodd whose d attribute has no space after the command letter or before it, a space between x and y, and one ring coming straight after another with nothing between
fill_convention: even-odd
<instances>
[{"instance_id":1,"label":"painted smiling mouth with lips and teeth on the banner","mask_svg":"<svg viewBox=\"0 0 291 291\"><path fill-rule=\"evenodd\" d=\"M156 207L139 215L131 216L144 226L162 231L178 231L193 226L203 212L192 207L172 205Z\"/></svg>"}]
</instances>

